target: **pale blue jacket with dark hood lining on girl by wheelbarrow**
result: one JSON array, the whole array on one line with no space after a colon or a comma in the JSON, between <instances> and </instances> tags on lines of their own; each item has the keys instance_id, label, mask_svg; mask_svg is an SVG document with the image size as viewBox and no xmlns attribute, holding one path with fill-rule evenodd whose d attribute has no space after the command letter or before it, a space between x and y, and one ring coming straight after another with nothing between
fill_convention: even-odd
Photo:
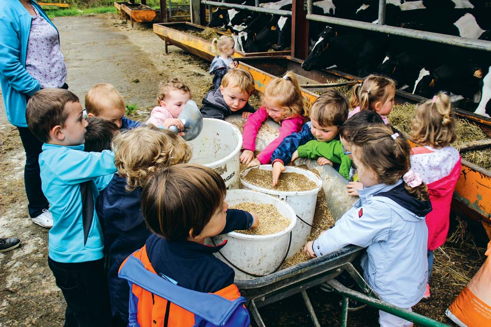
<instances>
[{"instance_id":1,"label":"pale blue jacket with dark hood lining on girl by wheelbarrow","mask_svg":"<svg viewBox=\"0 0 491 327\"><path fill-rule=\"evenodd\" d=\"M428 282L425 216L431 203L413 198L402 179L358 190L358 195L312 249L322 256L349 244L367 247L361 259L365 280L382 300L409 308L421 300Z\"/></svg>"}]
</instances>

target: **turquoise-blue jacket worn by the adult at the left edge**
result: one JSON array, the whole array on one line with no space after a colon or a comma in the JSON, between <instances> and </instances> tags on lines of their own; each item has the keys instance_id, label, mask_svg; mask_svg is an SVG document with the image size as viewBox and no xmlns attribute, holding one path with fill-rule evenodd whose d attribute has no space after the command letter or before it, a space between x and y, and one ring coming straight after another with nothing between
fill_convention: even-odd
<instances>
[{"instance_id":1,"label":"turquoise-blue jacket worn by the adult at the left edge","mask_svg":"<svg viewBox=\"0 0 491 327\"><path fill-rule=\"evenodd\" d=\"M0 3L0 85L5 111L10 124L27 127L26 96L32 96L41 88L39 81L26 70L32 17L18 0L0 0ZM31 3L55 27L41 6L33 0Z\"/></svg>"}]
</instances>

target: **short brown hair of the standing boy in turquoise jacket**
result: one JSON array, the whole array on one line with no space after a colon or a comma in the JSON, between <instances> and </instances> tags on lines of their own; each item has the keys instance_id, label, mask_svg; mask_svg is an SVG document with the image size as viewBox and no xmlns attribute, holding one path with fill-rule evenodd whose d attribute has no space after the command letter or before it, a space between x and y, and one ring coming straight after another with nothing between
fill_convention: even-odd
<instances>
[{"instance_id":1,"label":"short brown hair of the standing boy in turquoise jacket","mask_svg":"<svg viewBox=\"0 0 491 327\"><path fill-rule=\"evenodd\" d=\"M29 130L41 142L50 141L50 130L65 126L68 102L79 102L79 97L64 89L42 89L27 102L26 120Z\"/></svg>"}]
</instances>

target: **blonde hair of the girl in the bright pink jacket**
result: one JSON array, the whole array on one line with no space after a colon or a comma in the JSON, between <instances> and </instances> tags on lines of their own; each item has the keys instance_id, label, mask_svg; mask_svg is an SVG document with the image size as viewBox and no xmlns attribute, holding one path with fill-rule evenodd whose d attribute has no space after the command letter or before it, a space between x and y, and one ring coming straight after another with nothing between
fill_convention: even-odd
<instances>
[{"instance_id":1,"label":"blonde hair of the girl in the bright pink jacket","mask_svg":"<svg viewBox=\"0 0 491 327\"><path fill-rule=\"evenodd\" d=\"M309 115L307 101L302 95L297 77L292 72L269 82L261 98L263 105L265 101L275 101L278 106L285 108L283 119Z\"/></svg>"}]
</instances>

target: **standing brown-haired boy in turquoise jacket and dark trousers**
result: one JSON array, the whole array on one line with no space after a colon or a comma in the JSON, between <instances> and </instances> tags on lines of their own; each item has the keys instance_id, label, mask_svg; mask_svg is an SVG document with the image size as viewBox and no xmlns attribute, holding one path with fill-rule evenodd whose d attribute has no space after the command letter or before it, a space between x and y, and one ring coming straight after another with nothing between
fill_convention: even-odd
<instances>
[{"instance_id":1,"label":"standing brown-haired boy in turquoise jacket and dark trousers","mask_svg":"<svg viewBox=\"0 0 491 327\"><path fill-rule=\"evenodd\" d=\"M27 125L42 142L42 189L50 203L48 265L67 302L65 326L110 326L103 241L94 202L116 172L111 151L84 152L79 98L43 89L27 104ZM108 178L109 177L109 178Z\"/></svg>"}]
</instances>

